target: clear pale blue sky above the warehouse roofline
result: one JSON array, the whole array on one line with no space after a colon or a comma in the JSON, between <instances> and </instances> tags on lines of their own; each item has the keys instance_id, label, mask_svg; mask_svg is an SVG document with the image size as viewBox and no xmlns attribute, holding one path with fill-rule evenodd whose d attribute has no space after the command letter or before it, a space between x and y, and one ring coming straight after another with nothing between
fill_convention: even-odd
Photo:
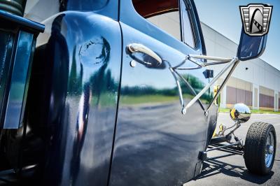
<instances>
[{"instance_id":1,"label":"clear pale blue sky above the warehouse roofline","mask_svg":"<svg viewBox=\"0 0 280 186\"><path fill-rule=\"evenodd\" d=\"M239 6L267 3L273 6L267 46L260 59L280 70L280 0L194 0L200 21L239 43L241 16Z\"/></svg>"}]
</instances>

